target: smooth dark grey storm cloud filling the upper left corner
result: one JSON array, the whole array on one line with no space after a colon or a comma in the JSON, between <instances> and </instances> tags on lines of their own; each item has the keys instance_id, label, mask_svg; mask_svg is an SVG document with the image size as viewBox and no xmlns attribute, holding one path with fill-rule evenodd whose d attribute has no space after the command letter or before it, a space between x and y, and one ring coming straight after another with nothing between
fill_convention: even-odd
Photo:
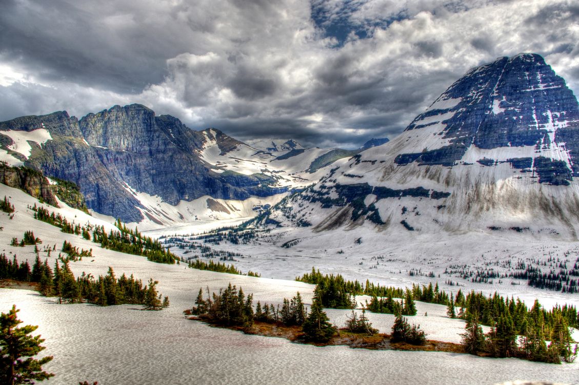
<instances>
[{"instance_id":1,"label":"smooth dark grey storm cloud filling the upper left corner","mask_svg":"<svg viewBox=\"0 0 579 385\"><path fill-rule=\"evenodd\" d=\"M137 12L106 17L101 10L110 3L86 5L10 1L0 12L2 56L45 81L67 79L118 92L140 92L162 81L165 60L179 53L178 44L160 44L154 32L163 32L141 24ZM153 30L142 31L147 24Z\"/></svg>"}]
</instances>

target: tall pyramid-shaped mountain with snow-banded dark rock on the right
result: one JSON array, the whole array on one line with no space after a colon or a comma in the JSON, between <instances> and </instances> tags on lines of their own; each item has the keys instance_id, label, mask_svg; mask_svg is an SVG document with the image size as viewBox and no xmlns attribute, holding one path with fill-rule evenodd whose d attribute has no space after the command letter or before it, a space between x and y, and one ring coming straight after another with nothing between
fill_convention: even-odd
<instances>
[{"instance_id":1,"label":"tall pyramid-shaped mountain with snow-banded dark rock on the right","mask_svg":"<svg viewBox=\"0 0 579 385\"><path fill-rule=\"evenodd\" d=\"M369 221L403 233L575 239L578 140L579 106L564 79L541 56L501 57L468 71L400 136L332 169L270 219L295 224L307 212L315 231Z\"/></svg>"}]
</instances>

